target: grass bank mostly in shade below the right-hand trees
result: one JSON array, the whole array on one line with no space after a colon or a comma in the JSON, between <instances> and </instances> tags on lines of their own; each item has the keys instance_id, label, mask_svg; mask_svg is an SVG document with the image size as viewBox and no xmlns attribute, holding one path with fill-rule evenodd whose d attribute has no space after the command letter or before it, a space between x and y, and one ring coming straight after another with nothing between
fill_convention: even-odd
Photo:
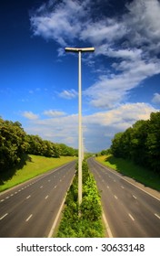
<instances>
[{"instance_id":1,"label":"grass bank mostly in shade below the right-hand trees","mask_svg":"<svg viewBox=\"0 0 160 256\"><path fill-rule=\"evenodd\" d=\"M135 165L131 161L115 158L113 155L97 156L95 159L101 164L109 166L125 176L132 177L146 187L152 187L160 191L160 176L150 170Z\"/></svg>"}]
</instances>

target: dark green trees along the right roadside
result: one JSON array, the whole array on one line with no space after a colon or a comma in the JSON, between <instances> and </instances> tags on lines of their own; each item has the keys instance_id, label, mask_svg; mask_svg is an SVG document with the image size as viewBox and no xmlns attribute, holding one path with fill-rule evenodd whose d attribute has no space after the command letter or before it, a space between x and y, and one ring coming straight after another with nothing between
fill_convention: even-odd
<instances>
[{"instance_id":1,"label":"dark green trees along the right roadside","mask_svg":"<svg viewBox=\"0 0 160 256\"><path fill-rule=\"evenodd\" d=\"M160 173L160 112L152 112L149 120L140 120L116 133L111 153Z\"/></svg>"}]
</instances>

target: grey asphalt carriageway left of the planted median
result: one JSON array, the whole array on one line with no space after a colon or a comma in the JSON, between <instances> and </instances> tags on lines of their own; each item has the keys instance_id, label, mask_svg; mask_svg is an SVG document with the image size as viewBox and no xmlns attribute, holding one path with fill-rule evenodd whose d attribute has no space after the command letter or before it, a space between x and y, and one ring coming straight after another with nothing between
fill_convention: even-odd
<instances>
[{"instance_id":1,"label":"grey asphalt carriageway left of the planted median","mask_svg":"<svg viewBox=\"0 0 160 256\"><path fill-rule=\"evenodd\" d=\"M0 194L0 237L43 238L75 174L75 161Z\"/></svg>"}]
</instances>

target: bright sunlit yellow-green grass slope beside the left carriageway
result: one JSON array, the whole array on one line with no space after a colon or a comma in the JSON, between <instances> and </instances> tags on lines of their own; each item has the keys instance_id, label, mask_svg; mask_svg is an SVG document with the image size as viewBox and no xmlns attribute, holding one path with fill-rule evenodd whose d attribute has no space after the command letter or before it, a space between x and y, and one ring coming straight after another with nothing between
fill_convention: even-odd
<instances>
[{"instance_id":1,"label":"bright sunlit yellow-green grass slope beside the left carriageway","mask_svg":"<svg viewBox=\"0 0 160 256\"><path fill-rule=\"evenodd\" d=\"M4 175L5 178L1 177L0 191L14 187L20 183L25 182L26 180L41 175L51 169L54 169L58 166L65 165L76 158L73 156L61 156L60 158L49 158L39 155L29 155L29 160L26 161L26 165L23 168L20 168L15 171L14 176L6 180L7 173Z\"/></svg>"}]
</instances>

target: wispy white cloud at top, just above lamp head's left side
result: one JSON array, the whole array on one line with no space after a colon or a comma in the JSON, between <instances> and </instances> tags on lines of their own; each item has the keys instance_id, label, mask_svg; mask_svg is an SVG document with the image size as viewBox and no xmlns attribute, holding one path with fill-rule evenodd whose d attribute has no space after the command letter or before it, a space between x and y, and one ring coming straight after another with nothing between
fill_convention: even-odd
<instances>
[{"instance_id":1,"label":"wispy white cloud at top, just above lamp head's left side","mask_svg":"<svg viewBox=\"0 0 160 256\"><path fill-rule=\"evenodd\" d=\"M30 19L35 36L54 39L61 46L65 46L68 37L69 40L78 37L81 30L80 20L86 15L87 2L83 1L83 5L79 5L77 1L64 0L58 4L50 1L49 5L42 5Z\"/></svg>"}]
</instances>

